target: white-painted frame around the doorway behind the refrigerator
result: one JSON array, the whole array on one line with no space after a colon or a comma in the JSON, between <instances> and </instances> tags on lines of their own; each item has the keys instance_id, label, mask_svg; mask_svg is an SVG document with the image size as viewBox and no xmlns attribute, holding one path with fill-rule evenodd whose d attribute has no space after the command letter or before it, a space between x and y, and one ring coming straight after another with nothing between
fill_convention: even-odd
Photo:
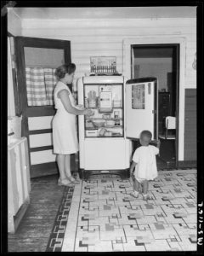
<instances>
[{"instance_id":1,"label":"white-painted frame around the doorway behind the refrigerator","mask_svg":"<svg viewBox=\"0 0 204 256\"><path fill-rule=\"evenodd\" d=\"M177 157L176 165L178 161L184 160L184 87L185 87L185 49L186 39L179 37L169 36L157 36L156 38L150 37L136 37L128 38L123 40L123 51L122 51L122 73L127 77L131 78L131 61L132 61L132 45L133 44L178 44L179 45L179 56L178 56L178 90L177 90ZM179 119L178 119L179 117Z\"/></svg>"}]
</instances>

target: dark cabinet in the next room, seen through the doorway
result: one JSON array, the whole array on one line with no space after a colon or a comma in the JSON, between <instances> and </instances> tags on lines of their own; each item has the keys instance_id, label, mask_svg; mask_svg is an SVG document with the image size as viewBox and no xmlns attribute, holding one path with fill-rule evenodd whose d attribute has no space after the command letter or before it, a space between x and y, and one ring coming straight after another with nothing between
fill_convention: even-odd
<instances>
[{"instance_id":1,"label":"dark cabinet in the next room, seen through the doorway","mask_svg":"<svg viewBox=\"0 0 204 256\"><path fill-rule=\"evenodd\" d=\"M163 134L165 131L165 118L170 114L170 93L169 92L159 92L159 102L158 102L158 112L159 112L159 134Z\"/></svg>"}]
</instances>

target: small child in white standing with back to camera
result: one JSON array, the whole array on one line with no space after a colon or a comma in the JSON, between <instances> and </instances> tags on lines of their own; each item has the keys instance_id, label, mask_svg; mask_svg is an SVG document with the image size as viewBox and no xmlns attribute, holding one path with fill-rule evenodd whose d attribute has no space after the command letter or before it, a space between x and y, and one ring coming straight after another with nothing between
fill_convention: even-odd
<instances>
[{"instance_id":1,"label":"small child in white standing with back to camera","mask_svg":"<svg viewBox=\"0 0 204 256\"><path fill-rule=\"evenodd\" d=\"M139 188L143 187L143 199L150 199L147 195L149 180L157 177L156 154L159 154L160 141L157 141L157 147L151 146L152 134L150 131L142 131L139 142L141 147L137 148L133 154L133 163L130 166L130 173L133 177L133 192L131 195L138 198ZM135 170L134 170L135 168Z\"/></svg>"}]
</instances>

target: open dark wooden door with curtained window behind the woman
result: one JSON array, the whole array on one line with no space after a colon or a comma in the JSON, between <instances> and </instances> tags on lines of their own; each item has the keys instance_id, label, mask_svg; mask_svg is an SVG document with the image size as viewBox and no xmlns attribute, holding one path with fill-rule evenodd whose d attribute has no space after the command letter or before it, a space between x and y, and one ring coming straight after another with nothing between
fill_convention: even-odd
<instances>
[{"instance_id":1,"label":"open dark wooden door with curtained window behind the woman","mask_svg":"<svg viewBox=\"0 0 204 256\"><path fill-rule=\"evenodd\" d=\"M16 37L15 55L20 113L23 117L22 136L28 139L31 177L57 173L52 143L52 119L55 109L53 101L47 100L46 87L43 90L43 70L46 68L54 74L56 67L71 62L70 41ZM33 79L36 80L33 82ZM38 81L40 85L37 84ZM29 85L30 83L32 85ZM53 89L54 86L51 87L49 96ZM34 101L35 93L37 98Z\"/></svg>"}]
</instances>

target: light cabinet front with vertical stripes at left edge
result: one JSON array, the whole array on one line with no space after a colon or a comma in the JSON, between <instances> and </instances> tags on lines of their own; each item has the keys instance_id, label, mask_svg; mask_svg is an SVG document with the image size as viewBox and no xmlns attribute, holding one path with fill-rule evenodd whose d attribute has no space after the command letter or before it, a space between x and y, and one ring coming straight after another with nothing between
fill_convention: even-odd
<instances>
[{"instance_id":1,"label":"light cabinet front with vertical stripes at left edge","mask_svg":"<svg viewBox=\"0 0 204 256\"><path fill-rule=\"evenodd\" d=\"M8 232L14 233L30 202L31 181L26 137L8 145Z\"/></svg>"}]
</instances>

